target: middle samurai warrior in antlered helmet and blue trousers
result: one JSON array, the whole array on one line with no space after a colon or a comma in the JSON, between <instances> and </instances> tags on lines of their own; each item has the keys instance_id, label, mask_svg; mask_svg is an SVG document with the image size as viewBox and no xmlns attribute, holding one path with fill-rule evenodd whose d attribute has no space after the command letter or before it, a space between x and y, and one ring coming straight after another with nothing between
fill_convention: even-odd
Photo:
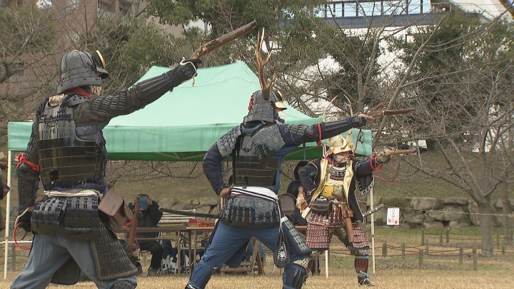
<instances>
[{"instance_id":1,"label":"middle samurai warrior in antlered helmet and blue trousers","mask_svg":"<svg viewBox=\"0 0 514 289\"><path fill-rule=\"evenodd\" d=\"M261 45L257 45L260 49ZM258 50L256 54L258 55ZM259 64L259 61L258 61ZM260 69L262 71L262 67ZM311 249L277 203L281 165L286 154L302 143L336 136L366 125L361 114L312 126L284 124L286 106L278 91L263 81L251 96L248 115L241 125L221 136L203 158L203 172L214 192L226 198L206 253L193 270L186 288L205 288L213 272L246 248L251 238L274 250L283 230L291 257L284 268L283 288L301 288L308 276ZM232 157L233 183L223 181L223 160ZM241 260L241 258L239 259Z\"/></svg>"}]
</instances>

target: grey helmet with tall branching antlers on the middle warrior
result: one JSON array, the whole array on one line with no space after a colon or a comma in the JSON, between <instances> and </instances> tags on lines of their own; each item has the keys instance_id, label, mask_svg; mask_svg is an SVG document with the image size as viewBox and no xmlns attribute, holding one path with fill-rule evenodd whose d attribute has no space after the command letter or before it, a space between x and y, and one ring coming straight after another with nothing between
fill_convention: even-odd
<instances>
[{"instance_id":1,"label":"grey helmet with tall branching antlers on the middle warrior","mask_svg":"<svg viewBox=\"0 0 514 289\"><path fill-rule=\"evenodd\" d=\"M261 56L261 48L264 42L264 29L259 34L256 46L256 61L258 69L258 79L261 84L261 90L254 92L250 98L248 106L248 115L243 118L243 122L248 121L266 121L273 122L278 119L276 108L286 109L283 104L282 94L280 91L273 91L271 88L276 83L276 78L267 83L264 78L264 66L271 59L271 52L268 53L266 59Z\"/></svg>"}]
</instances>

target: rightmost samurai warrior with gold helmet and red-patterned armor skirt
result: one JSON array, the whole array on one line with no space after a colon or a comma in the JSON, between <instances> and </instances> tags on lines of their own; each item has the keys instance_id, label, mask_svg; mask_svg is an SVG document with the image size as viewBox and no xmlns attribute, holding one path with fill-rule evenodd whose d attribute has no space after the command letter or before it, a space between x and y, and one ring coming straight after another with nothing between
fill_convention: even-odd
<instances>
[{"instance_id":1,"label":"rightmost samurai warrior with gold helmet and red-patterned armor skirt","mask_svg":"<svg viewBox=\"0 0 514 289\"><path fill-rule=\"evenodd\" d=\"M352 154L353 143L341 135L329 138L328 145L326 156L298 172L303 196L297 206L308 220L306 243L313 250L328 250L335 234L356 256L358 284L373 285L368 275L369 244L361 225L364 218L355 192L358 186L361 196L366 196L373 186L373 170L389 157L373 155L358 161Z\"/></svg>"}]
</instances>

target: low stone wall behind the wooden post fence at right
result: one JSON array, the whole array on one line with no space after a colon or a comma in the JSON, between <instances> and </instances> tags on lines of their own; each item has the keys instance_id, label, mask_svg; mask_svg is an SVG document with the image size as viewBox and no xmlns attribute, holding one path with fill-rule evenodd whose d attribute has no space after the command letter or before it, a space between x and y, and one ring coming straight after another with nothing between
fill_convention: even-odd
<instances>
[{"instance_id":1,"label":"low stone wall behind the wooden post fence at right","mask_svg":"<svg viewBox=\"0 0 514 289\"><path fill-rule=\"evenodd\" d=\"M386 223L387 208L400 208L400 225L424 228L463 228L480 224L478 206L467 198L381 198L376 204L384 203L385 208L375 213L378 224ZM503 203L494 203L498 214L503 213ZM510 211L513 211L510 202ZM369 221L369 218L368 218ZM503 216L496 216L496 224L503 223ZM514 224L514 216L509 216L508 222Z\"/></svg>"}]
</instances>

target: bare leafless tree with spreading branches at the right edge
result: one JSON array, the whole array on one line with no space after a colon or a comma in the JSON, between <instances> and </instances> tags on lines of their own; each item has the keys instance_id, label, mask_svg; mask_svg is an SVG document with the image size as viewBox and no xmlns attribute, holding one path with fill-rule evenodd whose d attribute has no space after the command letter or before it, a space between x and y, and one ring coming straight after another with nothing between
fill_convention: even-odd
<instances>
[{"instance_id":1,"label":"bare leafless tree with spreading branches at the right edge","mask_svg":"<svg viewBox=\"0 0 514 289\"><path fill-rule=\"evenodd\" d=\"M400 131L430 140L443 156L443 165L421 158L409 163L468 193L478 205L482 253L492 255L497 212L491 198L513 181L514 39L512 24L475 20L453 14L432 36L419 35L415 49L423 56L401 87L408 97L399 100L418 109L403 118Z\"/></svg>"}]
</instances>

